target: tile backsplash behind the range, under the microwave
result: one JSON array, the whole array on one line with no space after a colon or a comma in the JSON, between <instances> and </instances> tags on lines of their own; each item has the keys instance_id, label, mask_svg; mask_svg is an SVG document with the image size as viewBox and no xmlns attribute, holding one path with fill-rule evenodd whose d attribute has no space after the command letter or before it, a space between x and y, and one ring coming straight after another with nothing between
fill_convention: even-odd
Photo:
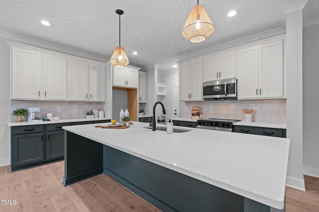
<instances>
[{"instance_id":1,"label":"tile backsplash behind the range, under the microwave","mask_svg":"<svg viewBox=\"0 0 319 212\"><path fill-rule=\"evenodd\" d=\"M191 118L192 106L200 106L203 119L215 118L245 121L243 109L259 108L259 111L255 111L253 114L254 122L287 123L286 99L185 102L185 107L187 107L188 111L183 112L184 118Z\"/></svg>"}]
</instances>

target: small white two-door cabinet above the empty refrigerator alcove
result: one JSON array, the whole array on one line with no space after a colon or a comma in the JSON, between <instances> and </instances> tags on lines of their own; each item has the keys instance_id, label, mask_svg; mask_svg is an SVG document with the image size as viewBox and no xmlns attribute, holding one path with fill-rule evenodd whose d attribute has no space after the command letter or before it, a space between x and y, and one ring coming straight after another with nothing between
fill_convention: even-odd
<instances>
[{"instance_id":1,"label":"small white two-door cabinet above the empty refrigerator alcove","mask_svg":"<svg viewBox=\"0 0 319 212\"><path fill-rule=\"evenodd\" d=\"M135 67L113 67L113 86L138 88L139 69Z\"/></svg>"}]
</instances>

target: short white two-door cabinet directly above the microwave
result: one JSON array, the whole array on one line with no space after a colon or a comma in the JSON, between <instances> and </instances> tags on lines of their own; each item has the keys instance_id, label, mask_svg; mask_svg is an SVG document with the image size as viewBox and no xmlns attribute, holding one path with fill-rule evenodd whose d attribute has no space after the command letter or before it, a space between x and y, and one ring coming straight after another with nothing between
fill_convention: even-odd
<instances>
[{"instance_id":1,"label":"short white two-door cabinet directly above the microwave","mask_svg":"<svg viewBox=\"0 0 319 212\"><path fill-rule=\"evenodd\" d=\"M236 52L214 54L204 58L204 81L236 77Z\"/></svg>"}]
</instances>

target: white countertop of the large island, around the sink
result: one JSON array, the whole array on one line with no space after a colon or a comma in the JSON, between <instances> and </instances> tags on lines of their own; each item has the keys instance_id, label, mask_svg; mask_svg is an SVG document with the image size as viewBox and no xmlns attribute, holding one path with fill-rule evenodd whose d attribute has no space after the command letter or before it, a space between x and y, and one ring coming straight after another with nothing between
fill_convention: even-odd
<instances>
[{"instance_id":1,"label":"white countertop of the large island, around the sink","mask_svg":"<svg viewBox=\"0 0 319 212\"><path fill-rule=\"evenodd\" d=\"M167 134L143 128L147 126L134 122L127 129L101 129L95 124L63 129L270 207L284 208L289 139L175 126L190 131Z\"/></svg>"}]
</instances>

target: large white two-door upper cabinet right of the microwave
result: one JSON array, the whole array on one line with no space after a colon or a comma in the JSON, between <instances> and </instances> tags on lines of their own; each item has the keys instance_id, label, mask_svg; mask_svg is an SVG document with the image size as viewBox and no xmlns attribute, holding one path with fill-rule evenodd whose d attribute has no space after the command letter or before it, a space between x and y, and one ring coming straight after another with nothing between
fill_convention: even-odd
<instances>
[{"instance_id":1,"label":"large white two-door upper cabinet right of the microwave","mask_svg":"<svg viewBox=\"0 0 319 212\"><path fill-rule=\"evenodd\" d=\"M238 98L283 98L283 41L238 51Z\"/></svg>"}]
</instances>

